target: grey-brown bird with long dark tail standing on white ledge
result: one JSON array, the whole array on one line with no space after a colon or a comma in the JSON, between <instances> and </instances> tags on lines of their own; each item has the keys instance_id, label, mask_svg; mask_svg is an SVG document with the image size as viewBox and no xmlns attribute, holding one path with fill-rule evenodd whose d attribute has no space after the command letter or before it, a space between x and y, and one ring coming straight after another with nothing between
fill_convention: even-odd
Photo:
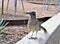
<instances>
[{"instance_id":1,"label":"grey-brown bird with long dark tail standing on white ledge","mask_svg":"<svg viewBox=\"0 0 60 44\"><path fill-rule=\"evenodd\" d=\"M35 11L26 12L26 14L30 15L30 19L28 21L28 27L32 31L32 35L29 39L37 39L37 32L41 30L41 28L44 30L45 33L47 32L47 30L44 27L42 27L41 23L37 20ZM33 37L34 32L36 32L35 37Z\"/></svg>"}]
</instances>

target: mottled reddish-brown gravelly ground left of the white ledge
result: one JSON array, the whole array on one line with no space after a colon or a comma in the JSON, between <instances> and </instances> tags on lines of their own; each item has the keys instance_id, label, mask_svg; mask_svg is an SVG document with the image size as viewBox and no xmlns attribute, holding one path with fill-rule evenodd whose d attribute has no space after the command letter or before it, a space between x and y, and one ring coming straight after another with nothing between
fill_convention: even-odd
<instances>
[{"instance_id":1,"label":"mottled reddish-brown gravelly ground left of the white ledge","mask_svg":"<svg viewBox=\"0 0 60 44\"><path fill-rule=\"evenodd\" d=\"M10 34L3 35L2 44L15 44L30 32L26 26L8 26L4 30L10 32Z\"/></svg>"}]
</instances>

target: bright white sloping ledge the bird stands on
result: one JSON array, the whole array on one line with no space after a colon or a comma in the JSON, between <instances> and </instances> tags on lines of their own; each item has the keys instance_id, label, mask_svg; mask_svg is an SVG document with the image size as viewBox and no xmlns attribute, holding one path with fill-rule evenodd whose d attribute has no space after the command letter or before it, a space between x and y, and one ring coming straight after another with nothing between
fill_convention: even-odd
<instances>
[{"instance_id":1,"label":"bright white sloping ledge the bird stands on","mask_svg":"<svg viewBox=\"0 0 60 44\"><path fill-rule=\"evenodd\" d=\"M44 33L42 30L38 32L38 39L29 40L28 38L31 36L31 32L26 35L23 39L18 41L16 44L45 44L49 39L50 35L55 31L55 29L60 24L60 13L56 14L46 22L42 24L44 28L47 29L48 33Z\"/></svg>"}]
</instances>

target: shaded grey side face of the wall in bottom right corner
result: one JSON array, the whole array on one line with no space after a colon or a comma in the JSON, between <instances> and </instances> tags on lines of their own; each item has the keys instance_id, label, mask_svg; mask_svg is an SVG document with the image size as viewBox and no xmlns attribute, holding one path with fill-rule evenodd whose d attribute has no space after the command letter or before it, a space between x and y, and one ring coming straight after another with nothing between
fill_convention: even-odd
<instances>
[{"instance_id":1,"label":"shaded grey side face of the wall in bottom right corner","mask_svg":"<svg viewBox=\"0 0 60 44\"><path fill-rule=\"evenodd\" d=\"M60 25L52 33L46 44L60 44Z\"/></svg>"}]
</instances>

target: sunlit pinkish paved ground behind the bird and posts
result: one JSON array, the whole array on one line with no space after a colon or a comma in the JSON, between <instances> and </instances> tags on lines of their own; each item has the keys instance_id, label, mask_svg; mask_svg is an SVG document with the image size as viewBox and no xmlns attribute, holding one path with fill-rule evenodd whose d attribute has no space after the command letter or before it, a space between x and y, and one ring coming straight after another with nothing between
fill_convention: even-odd
<instances>
[{"instance_id":1,"label":"sunlit pinkish paved ground behind the bird and posts","mask_svg":"<svg viewBox=\"0 0 60 44\"><path fill-rule=\"evenodd\" d=\"M18 4L17 4L17 15L23 15L23 16L29 16L29 15L26 15L23 13L23 9L22 9L22 4L21 4L21 1L18 0L17 1ZM8 8L8 11L6 11L6 6L7 5L7 0L5 0L4 2L4 13L10 13L10 14L14 14L14 3L13 3L13 0L10 0L9 2L9 8ZM42 18L42 17L50 17L50 16L53 16L55 15L55 6L53 5L50 5L49 7L49 10L46 10L46 7L44 8L44 11L43 11L43 5L40 5L40 4L32 4L32 3L28 3L28 2L24 2L24 7L25 7L25 11L36 11L36 16L37 18ZM47 6L47 5L46 5ZM0 8L1 8L1 0L0 0Z\"/></svg>"}]
</instances>

